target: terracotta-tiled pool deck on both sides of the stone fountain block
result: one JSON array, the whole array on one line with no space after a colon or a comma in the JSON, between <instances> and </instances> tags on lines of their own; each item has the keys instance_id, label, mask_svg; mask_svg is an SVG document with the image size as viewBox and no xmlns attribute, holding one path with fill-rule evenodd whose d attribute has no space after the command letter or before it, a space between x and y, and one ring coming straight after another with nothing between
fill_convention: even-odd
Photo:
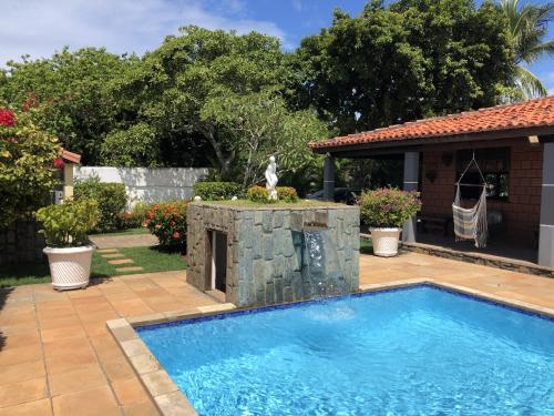
<instances>
[{"instance_id":1,"label":"terracotta-tiled pool deck on both sides of the stone fountain block","mask_svg":"<svg viewBox=\"0 0 554 416\"><path fill-rule=\"evenodd\" d=\"M417 253L360 258L360 285L414 278L554 308L552 278ZM214 304L185 283L184 272L114 277L64 293L50 285L3 290L0 416L156 415L105 322Z\"/></svg>"}]
</instances>

